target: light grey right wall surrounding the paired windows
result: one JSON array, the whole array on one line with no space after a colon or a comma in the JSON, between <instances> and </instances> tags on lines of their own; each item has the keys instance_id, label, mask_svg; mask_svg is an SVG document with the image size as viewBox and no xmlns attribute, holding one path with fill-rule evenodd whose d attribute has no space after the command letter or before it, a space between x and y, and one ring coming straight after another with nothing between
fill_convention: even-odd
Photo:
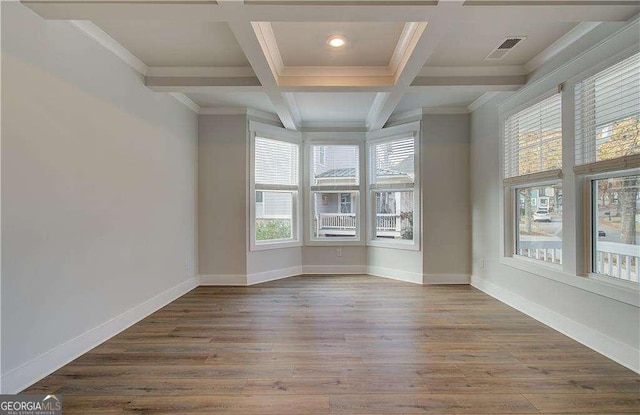
<instances>
[{"instance_id":1,"label":"light grey right wall surrounding the paired windows","mask_svg":"<svg viewBox=\"0 0 640 415\"><path fill-rule=\"evenodd\" d=\"M637 33L636 25L568 65L551 62L556 71L546 71L545 76L531 81L516 96L498 95L471 116L473 284L636 371L640 370L640 310L633 305L634 301L637 303L637 292L634 294L633 290L619 289L570 273L562 274L557 281L543 277L541 272L516 268L501 259L503 204L498 104L509 98L508 106L511 107L547 92L617 52L637 45ZM572 180L570 171L565 172L565 180ZM572 194L565 192L564 201L567 248L575 246L575 232L568 228L575 228L572 221L579 211ZM572 249L565 250L565 256L569 257L570 252ZM575 268L575 261L572 264L568 258L567 262L568 267Z\"/></svg>"}]
</instances>

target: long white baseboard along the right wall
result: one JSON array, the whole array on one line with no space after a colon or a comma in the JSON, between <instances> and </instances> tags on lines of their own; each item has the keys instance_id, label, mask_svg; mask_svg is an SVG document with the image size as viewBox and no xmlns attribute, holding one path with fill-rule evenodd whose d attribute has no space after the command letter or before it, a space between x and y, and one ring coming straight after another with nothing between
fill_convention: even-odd
<instances>
[{"instance_id":1,"label":"long white baseboard along the right wall","mask_svg":"<svg viewBox=\"0 0 640 415\"><path fill-rule=\"evenodd\" d=\"M527 298L506 290L486 279L471 276L471 285L573 340L605 355L609 359L640 373L640 350L621 343L602 332L578 323Z\"/></svg>"}]
</instances>

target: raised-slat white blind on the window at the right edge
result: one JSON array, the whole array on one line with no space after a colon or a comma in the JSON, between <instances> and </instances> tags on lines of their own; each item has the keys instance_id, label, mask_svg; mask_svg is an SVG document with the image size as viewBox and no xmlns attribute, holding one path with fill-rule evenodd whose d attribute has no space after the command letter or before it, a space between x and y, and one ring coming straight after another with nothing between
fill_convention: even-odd
<instances>
[{"instance_id":1,"label":"raised-slat white blind on the window at the right edge","mask_svg":"<svg viewBox=\"0 0 640 415\"><path fill-rule=\"evenodd\" d=\"M575 87L576 172L640 167L640 54Z\"/></svg>"}]
</instances>

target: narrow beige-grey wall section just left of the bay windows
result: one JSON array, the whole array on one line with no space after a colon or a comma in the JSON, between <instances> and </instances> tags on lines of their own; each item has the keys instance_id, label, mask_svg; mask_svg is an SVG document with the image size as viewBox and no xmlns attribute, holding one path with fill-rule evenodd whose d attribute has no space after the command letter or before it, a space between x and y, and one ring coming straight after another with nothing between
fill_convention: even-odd
<instances>
[{"instance_id":1,"label":"narrow beige-grey wall section just left of the bay windows","mask_svg":"<svg viewBox=\"0 0 640 415\"><path fill-rule=\"evenodd\" d=\"M247 117L201 115L198 134L198 273L246 279Z\"/></svg>"}]
</instances>

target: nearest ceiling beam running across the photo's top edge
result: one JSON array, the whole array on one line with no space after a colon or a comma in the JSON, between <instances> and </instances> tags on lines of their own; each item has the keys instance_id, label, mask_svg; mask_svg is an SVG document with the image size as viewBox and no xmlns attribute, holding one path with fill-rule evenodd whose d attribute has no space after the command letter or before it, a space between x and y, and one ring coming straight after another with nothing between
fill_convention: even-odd
<instances>
[{"instance_id":1,"label":"nearest ceiling beam running across the photo's top edge","mask_svg":"<svg viewBox=\"0 0 640 415\"><path fill-rule=\"evenodd\" d=\"M442 5L452 0L410 5L407 2L353 2L347 5L318 5L316 2L271 4L254 2L220 2L208 0L169 1L104 1L104 0L25 0L23 3L46 19L59 20L150 20L189 22L231 21L306 21L306 22L389 22L435 21L441 19ZM274 4L275 3L275 4ZM637 10L637 2L536 2L497 4L467 3L450 23L493 19L507 19L515 24L544 22L624 22Z\"/></svg>"}]
</instances>

